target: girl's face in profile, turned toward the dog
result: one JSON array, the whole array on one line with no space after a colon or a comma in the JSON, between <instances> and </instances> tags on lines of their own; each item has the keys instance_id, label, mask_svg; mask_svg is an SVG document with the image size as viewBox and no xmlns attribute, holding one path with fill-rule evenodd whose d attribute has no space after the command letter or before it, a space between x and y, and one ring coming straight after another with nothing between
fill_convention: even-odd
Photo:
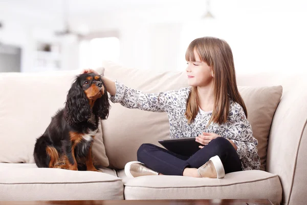
<instances>
[{"instance_id":1,"label":"girl's face in profile, turned toward the dog","mask_svg":"<svg viewBox=\"0 0 307 205\"><path fill-rule=\"evenodd\" d=\"M186 68L189 86L208 86L212 83L213 73L211 67L201 61L200 56L194 51L195 61L188 61Z\"/></svg>"}]
</instances>

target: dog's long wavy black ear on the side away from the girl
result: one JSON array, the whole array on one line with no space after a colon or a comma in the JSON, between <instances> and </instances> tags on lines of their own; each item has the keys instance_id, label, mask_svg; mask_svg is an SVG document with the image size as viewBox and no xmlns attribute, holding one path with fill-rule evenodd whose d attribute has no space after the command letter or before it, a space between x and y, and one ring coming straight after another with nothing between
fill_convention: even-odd
<instances>
[{"instance_id":1,"label":"dog's long wavy black ear on the side away from the girl","mask_svg":"<svg viewBox=\"0 0 307 205\"><path fill-rule=\"evenodd\" d=\"M89 105L89 99L87 99L77 78L67 94L64 108L64 119L69 125L74 125L89 119L90 117L91 107Z\"/></svg>"}]
</instances>

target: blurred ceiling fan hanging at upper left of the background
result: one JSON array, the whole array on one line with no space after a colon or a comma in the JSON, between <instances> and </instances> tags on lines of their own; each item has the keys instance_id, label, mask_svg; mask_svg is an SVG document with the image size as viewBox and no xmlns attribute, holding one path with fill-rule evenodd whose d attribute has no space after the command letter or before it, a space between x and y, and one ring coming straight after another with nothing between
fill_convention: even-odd
<instances>
[{"instance_id":1,"label":"blurred ceiling fan hanging at upper left of the background","mask_svg":"<svg viewBox=\"0 0 307 205\"><path fill-rule=\"evenodd\" d=\"M63 19L64 19L64 29L62 31L56 31L57 36L76 36L77 39L84 37L84 34L74 32L69 26L69 0L62 0L63 2Z\"/></svg>"}]
</instances>

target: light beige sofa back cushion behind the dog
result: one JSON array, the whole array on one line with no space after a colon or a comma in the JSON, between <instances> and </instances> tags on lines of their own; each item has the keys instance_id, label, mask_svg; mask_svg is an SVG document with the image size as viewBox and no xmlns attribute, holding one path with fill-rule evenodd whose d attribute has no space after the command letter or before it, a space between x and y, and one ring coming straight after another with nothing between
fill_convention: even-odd
<instances>
[{"instance_id":1,"label":"light beige sofa back cushion behind the dog","mask_svg":"<svg viewBox=\"0 0 307 205\"><path fill-rule=\"evenodd\" d=\"M103 69L98 69L100 73ZM34 163L36 138L64 107L68 90L80 70L0 74L0 162ZM108 166L102 132L93 145L96 165Z\"/></svg>"}]
</instances>

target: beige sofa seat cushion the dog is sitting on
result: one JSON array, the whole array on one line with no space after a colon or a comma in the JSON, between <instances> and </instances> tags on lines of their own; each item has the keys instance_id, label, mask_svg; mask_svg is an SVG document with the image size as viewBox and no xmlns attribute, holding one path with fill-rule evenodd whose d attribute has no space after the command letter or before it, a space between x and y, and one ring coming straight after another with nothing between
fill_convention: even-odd
<instances>
[{"instance_id":1,"label":"beige sofa seat cushion the dog is sitting on","mask_svg":"<svg viewBox=\"0 0 307 205\"><path fill-rule=\"evenodd\" d=\"M0 163L0 201L122 200L122 179L114 170L100 171L104 173Z\"/></svg>"}]
</instances>

